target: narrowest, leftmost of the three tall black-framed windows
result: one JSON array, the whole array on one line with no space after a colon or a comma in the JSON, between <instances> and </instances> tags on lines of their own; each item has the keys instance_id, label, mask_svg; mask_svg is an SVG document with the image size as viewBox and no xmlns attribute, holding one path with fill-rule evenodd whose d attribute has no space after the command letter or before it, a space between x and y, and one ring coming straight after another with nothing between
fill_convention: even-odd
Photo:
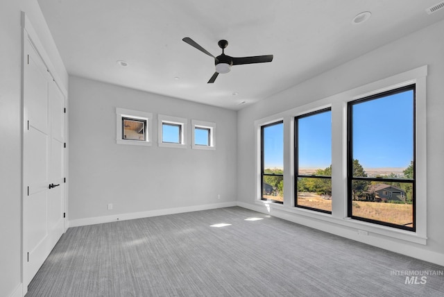
<instances>
[{"instance_id":1,"label":"narrowest, leftmost of the three tall black-framed windows","mask_svg":"<svg viewBox=\"0 0 444 297\"><path fill-rule=\"evenodd\" d=\"M261 127L261 198L284 202L284 123Z\"/></svg>"}]
</instances>

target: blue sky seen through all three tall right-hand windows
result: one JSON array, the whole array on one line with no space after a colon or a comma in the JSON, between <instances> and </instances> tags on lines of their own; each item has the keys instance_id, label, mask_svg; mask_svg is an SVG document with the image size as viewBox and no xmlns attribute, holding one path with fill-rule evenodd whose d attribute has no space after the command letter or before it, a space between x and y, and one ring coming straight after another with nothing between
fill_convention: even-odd
<instances>
[{"instance_id":1,"label":"blue sky seen through all three tall right-hand windows","mask_svg":"<svg viewBox=\"0 0 444 297\"><path fill-rule=\"evenodd\" d=\"M413 160L413 91L353 105L353 158L364 168L409 166ZM283 124L264 128L264 167L283 167ZM331 112L298 122L299 168L332 164Z\"/></svg>"}]
</instances>

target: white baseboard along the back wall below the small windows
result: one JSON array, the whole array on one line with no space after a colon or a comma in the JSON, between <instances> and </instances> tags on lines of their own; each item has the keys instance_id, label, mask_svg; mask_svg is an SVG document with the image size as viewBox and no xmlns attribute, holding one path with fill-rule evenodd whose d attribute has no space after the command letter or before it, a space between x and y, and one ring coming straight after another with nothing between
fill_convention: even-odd
<instances>
[{"instance_id":1,"label":"white baseboard along the back wall below the small windows","mask_svg":"<svg viewBox=\"0 0 444 297\"><path fill-rule=\"evenodd\" d=\"M167 208L164 210L148 210L146 212L132 212L128 214L112 214L110 216L75 219L68 221L68 227L95 225L98 223L110 223L115 221L126 221L131 219L142 219L147 217L164 216L166 214L180 214L182 212L197 212L199 210L212 210L214 208L237 206L236 201L213 203L205 205L194 205L185 207Z\"/></svg>"}]
</instances>

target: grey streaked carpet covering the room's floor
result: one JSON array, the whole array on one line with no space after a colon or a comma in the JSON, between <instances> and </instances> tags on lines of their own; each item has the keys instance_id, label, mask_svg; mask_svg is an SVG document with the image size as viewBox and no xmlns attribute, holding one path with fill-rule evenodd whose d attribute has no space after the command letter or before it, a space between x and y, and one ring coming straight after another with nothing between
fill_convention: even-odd
<instances>
[{"instance_id":1,"label":"grey streaked carpet covering the room's floor","mask_svg":"<svg viewBox=\"0 0 444 297\"><path fill-rule=\"evenodd\" d=\"M444 296L391 271L444 267L228 207L69 228L26 296Z\"/></svg>"}]
</instances>

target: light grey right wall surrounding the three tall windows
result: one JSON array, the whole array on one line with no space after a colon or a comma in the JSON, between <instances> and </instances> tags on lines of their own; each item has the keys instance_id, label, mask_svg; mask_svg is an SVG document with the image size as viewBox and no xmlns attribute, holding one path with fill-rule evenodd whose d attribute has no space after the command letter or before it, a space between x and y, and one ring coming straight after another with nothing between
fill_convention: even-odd
<instances>
[{"instance_id":1,"label":"light grey right wall surrounding the three tall windows","mask_svg":"<svg viewBox=\"0 0 444 297\"><path fill-rule=\"evenodd\" d=\"M364 241L393 251L401 251L438 264L444 264L444 22L396 40L355 60L306 80L284 92L275 94L238 113L238 203L255 210L265 207L256 204L255 195L255 126L258 119L290 110L306 103L354 89L404 71L429 65L427 76L427 245L406 243L377 235L365 239L357 230L335 226L321 220L302 218L298 214L277 210L278 217L316 226L338 235ZM420 198L420 197L418 197Z\"/></svg>"}]
</instances>

